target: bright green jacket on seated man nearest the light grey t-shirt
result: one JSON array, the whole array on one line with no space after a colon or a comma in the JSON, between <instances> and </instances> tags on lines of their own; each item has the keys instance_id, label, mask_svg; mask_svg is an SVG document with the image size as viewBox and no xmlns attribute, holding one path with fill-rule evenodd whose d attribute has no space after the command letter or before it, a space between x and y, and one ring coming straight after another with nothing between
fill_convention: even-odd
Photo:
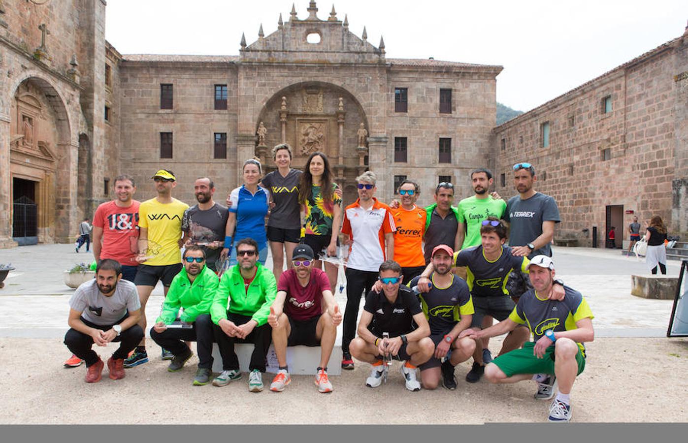
<instances>
[{"instance_id":1,"label":"bright green jacket on seated man nearest the light grey t-shirt","mask_svg":"<svg viewBox=\"0 0 688 443\"><path fill-rule=\"evenodd\" d=\"M155 323L162 321L169 325L177 319L180 307L184 310L180 320L185 323L193 323L197 316L208 314L215 299L217 285L217 275L208 266L203 267L193 283L189 281L186 268L182 267L172 280L162 304L162 312Z\"/></svg>"}]
</instances>

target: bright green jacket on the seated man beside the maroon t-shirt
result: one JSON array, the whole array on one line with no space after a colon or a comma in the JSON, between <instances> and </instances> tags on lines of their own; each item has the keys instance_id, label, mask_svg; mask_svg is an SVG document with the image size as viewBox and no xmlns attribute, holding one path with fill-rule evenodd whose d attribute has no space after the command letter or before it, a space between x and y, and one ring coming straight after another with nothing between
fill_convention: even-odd
<instances>
[{"instance_id":1,"label":"bright green jacket on the seated man beside the maroon t-shirt","mask_svg":"<svg viewBox=\"0 0 688 443\"><path fill-rule=\"evenodd\" d=\"M268 322L270 306L277 296L277 282L272 270L256 263L256 275L244 289L244 277L241 277L239 265L232 266L222 274L215 300L211 307L211 318L216 325L222 318L227 318L227 310L233 314L250 316L262 326ZM229 306L228 306L229 305Z\"/></svg>"}]
</instances>

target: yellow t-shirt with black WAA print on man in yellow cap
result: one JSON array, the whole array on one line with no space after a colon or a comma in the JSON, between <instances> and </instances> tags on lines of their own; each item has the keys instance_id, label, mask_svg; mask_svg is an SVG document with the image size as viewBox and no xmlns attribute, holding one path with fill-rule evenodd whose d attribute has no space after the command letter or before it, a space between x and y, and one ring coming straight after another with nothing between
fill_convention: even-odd
<instances>
[{"instance_id":1,"label":"yellow t-shirt with black WAA print on man in yellow cap","mask_svg":"<svg viewBox=\"0 0 688 443\"><path fill-rule=\"evenodd\" d=\"M144 265L166 266L182 262L177 241L182 237L182 216L189 205L173 198L162 204L158 199L146 200L138 208L138 226L148 229L149 258Z\"/></svg>"}]
</instances>

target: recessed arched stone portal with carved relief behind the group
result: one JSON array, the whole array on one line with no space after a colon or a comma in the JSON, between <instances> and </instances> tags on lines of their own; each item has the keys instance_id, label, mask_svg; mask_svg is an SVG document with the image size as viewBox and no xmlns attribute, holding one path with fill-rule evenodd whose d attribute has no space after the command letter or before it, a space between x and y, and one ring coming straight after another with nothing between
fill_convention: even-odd
<instances>
[{"instance_id":1,"label":"recessed arched stone portal with carved relief behind the group","mask_svg":"<svg viewBox=\"0 0 688 443\"><path fill-rule=\"evenodd\" d=\"M312 152L324 152L336 182L345 188L366 168L367 148L358 147L361 123L369 129L365 111L350 91L332 83L296 83L277 91L261 109L255 122L255 153L267 172L276 167L271 153L276 144L291 145L292 167L297 169L303 169ZM356 193L345 193L343 199L350 204Z\"/></svg>"}]
</instances>

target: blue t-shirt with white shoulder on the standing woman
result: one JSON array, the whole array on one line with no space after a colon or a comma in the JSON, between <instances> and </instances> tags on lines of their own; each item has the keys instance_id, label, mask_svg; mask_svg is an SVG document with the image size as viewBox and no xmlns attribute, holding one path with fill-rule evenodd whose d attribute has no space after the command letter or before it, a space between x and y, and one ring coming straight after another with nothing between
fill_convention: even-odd
<instances>
[{"instance_id":1,"label":"blue t-shirt with white shoulder on the standing woman","mask_svg":"<svg viewBox=\"0 0 688 443\"><path fill-rule=\"evenodd\" d=\"M258 186L255 194L250 193L246 186L235 188L229 195L232 206L231 213L237 215L237 227L234 231L235 243L241 239L251 238L263 249L268 244L265 233L265 216L270 208L270 191Z\"/></svg>"}]
</instances>

